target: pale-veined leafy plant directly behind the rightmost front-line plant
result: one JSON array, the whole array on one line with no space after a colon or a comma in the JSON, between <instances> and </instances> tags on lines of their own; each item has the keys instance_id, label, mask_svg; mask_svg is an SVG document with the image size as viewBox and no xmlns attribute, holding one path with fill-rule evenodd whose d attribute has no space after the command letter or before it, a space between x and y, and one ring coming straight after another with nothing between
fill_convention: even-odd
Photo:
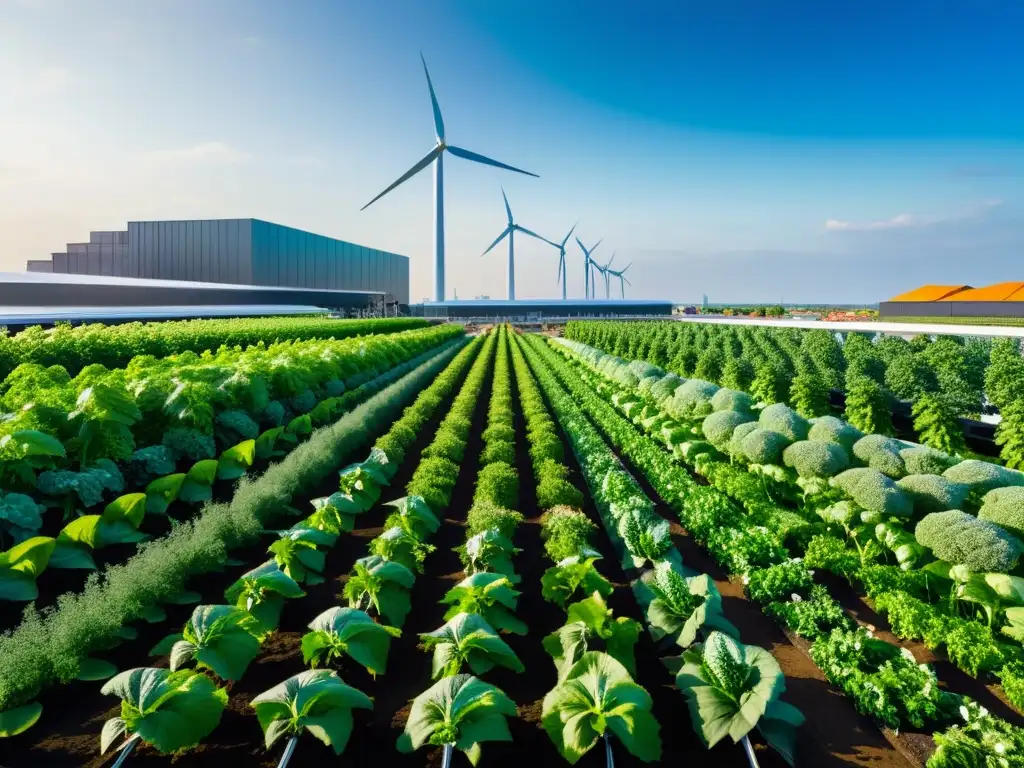
<instances>
[{"instance_id":1,"label":"pale-veined leafy plant directly behind the rightmost front-line plant","mask_svg":"<svg viewBox=\"0 0 1024 768\"><path fill-rule=\"evenodd\" d=\"M739 635L722 612L722 596L707 574L687 578L679 566L663 560L645 571L633 589L655 641L688 648L712 630Z\"/></svg>"}]
</instances>

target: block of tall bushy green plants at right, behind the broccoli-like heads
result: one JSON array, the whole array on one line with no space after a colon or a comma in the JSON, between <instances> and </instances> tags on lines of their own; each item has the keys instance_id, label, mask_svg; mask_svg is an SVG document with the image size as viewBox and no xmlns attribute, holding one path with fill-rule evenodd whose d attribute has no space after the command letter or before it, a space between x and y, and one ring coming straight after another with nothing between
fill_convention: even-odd
<instances>
[{"instance_id":1,"label":"block of tall bushy green plants at right, behind the broccoli-like heads","mask_svg":"<svg viewBox=\"0 0 1024 768\"><path fill-rule=\"evenodd\" d=\"M863 432L893 433L894 400L912 403L919 439L963 451L957 417L994 406L1008 466L1024 465L1024 359L1017 339L838 335L821 329L713 324L573 322L566 338L683 377L785 402L806 418L828 413L829 390L846 394L846 418ZM840 341L842 339L842 341Z\"/></svg>"}]
</instances>

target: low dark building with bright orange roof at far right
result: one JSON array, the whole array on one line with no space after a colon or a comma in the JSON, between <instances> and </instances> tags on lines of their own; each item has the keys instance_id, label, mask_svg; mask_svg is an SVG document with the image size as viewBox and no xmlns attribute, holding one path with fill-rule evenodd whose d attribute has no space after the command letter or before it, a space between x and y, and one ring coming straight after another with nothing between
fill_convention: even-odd
<instances>
[{"instance_id":1,"label":"low dark building with bright orange roof at far right","mask_svg":"<svg viewBox=\"0 0 1024 768\"><path fill-rule=\"evenodd\" d=\"M972 286L922 286L879 304L879 316L1024 317L1024 283Z\"/></svg>"}]
</instances>

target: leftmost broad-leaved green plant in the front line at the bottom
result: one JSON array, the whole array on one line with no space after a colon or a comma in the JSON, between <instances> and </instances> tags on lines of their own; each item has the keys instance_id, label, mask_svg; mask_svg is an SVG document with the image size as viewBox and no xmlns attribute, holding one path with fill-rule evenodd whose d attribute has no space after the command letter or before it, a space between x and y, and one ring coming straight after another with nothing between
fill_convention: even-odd
<instances>
[{"instance_id":1,"label":"leftmost broad-leaved green plant in the front line at the bottom","mask_svg":"<svg viewBox=\"0 0 1024 768\"><path fill-rule=\"evenodd\" d=\"M227 705L227 691L193 670L139 667L111 678L100 692L121 699L121 716L103 724L101 753L121 735L164 754L195 746L217 727Z\"/></svg>"}]
</instances>

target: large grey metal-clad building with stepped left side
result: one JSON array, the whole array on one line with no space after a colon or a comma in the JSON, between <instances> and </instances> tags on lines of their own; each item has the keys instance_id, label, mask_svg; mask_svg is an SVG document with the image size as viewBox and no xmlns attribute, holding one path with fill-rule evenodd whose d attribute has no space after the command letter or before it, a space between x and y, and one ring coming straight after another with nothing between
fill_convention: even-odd
<instances>
[{"instance_id":1,"label":"large grey metal-clad building with stepped left side","mask_svg":"<svg viewBox=\"0 0 1024 768\"><path fill-rule=\"evenodd\" d=\"M30 272L377 291L409 303L409 258L260 219L129 221L90 232Z\"/></svg>"}]
</instances>

